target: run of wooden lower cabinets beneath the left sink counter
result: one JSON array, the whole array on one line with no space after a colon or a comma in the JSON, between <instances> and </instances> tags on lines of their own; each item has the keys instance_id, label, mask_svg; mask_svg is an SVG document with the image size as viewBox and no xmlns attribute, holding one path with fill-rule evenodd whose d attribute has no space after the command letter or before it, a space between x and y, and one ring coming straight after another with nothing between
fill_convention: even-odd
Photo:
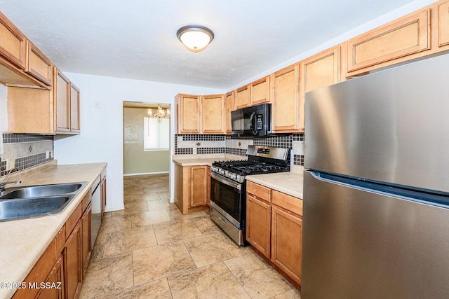
<instances>
[{"instance_id":1,"label":"run of wooden lower cabinets beneath the left sink counter","mask_svg":"<svg viewBox=\"0 0 449 299\"><path fill-rule=\"evenodd\" d=\"M26 288L19 288L14 299L78 298L92 250L91 207L89 190L25 278Z\"/></svg>"}]
</instances>

